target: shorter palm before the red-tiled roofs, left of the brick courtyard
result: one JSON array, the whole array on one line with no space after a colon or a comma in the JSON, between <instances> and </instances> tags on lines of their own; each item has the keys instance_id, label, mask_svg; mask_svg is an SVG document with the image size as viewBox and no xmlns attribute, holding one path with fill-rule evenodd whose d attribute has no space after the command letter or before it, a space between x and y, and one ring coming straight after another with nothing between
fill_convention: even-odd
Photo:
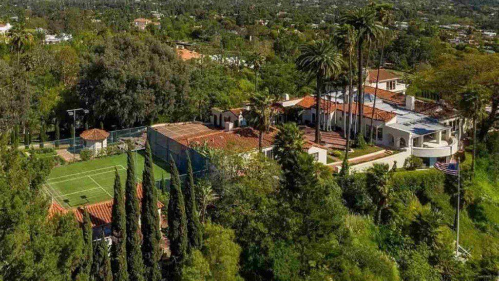
<instances>
[{"instance_id":1,"label":"shorter palm before the red-tiled roofs, left of the brick courtyard","mask_svg":"<svg viewBox=\"0 0 499 281\"><path fill-rule=\"evenodd\" d=\"M275 114L272 104L275 98L268 93L268 90L255 92L250 98L250 123L258 130L258 151L261 152L263 134L268 131Z\"/></svg>"}]
</instances>

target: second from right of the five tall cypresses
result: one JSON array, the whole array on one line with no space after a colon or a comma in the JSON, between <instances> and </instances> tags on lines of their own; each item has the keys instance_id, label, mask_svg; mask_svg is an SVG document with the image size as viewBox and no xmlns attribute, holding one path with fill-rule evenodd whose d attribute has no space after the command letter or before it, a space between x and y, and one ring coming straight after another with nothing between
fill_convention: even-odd
<instances>
[{"instance_id":1,"label":"second from right of the five tall cypresses","mask_svg":"<svg viewBox=\"0 0 499 281\"><path fill-rule=\"evenodd\" d=\"M170 156L171 157L171 156ZM182 276L182 264L187 256L187 217L180 176L173 157L170 158L170 200L168 201L168 239L170 240L172 273Z\"/></svg>"}]
</instances>

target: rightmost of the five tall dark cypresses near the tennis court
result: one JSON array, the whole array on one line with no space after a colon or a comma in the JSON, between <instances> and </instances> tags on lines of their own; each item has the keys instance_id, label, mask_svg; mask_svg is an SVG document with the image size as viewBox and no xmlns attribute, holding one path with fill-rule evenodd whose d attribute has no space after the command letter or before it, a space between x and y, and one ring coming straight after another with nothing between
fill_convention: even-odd
<instances>
[{"instance_id":1,"label":"rightmost of the five tall dark cypresses near the tennis court","mask_svg":"<svg viewBox=\"0 0 499 281\"><path fill-rule=\"evenodd\" d=\"M188 252L192 249L201 248L203 240L203 232L201 223L198 217L198 207L196 205L196 192L194 191L194 173L192 170L191 157L187 153L187 177L185 192L186 217L187 217L187 236L188 236Z\"/></svg>"}]
</instances>

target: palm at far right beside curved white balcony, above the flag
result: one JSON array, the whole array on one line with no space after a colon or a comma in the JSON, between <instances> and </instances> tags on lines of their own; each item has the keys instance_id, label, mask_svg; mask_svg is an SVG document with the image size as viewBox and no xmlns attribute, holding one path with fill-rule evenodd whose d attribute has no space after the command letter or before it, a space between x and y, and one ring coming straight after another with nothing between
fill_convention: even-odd
<instances>
[{"instance_id":1,"label":"palm at far right beside curved white balcony, above the flag","mask_svg":"<svg viewBox=\"0 0 499 281\"><path fill-rule=\"evenodd\" d=\"M463 115L472 119L473 122L473 157L472 175L475 175L475 157L477 150L477 121L486 114L485 107L488 104L490 90L479 84L467 86L461 92L460 108Z\"/></svg>"}]
</instances>

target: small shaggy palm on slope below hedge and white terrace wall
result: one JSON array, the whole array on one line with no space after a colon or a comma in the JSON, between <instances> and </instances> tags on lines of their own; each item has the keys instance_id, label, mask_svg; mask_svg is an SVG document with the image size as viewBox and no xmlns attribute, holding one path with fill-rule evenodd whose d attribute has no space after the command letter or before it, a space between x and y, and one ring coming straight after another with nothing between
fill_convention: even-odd
<instances>
[{"instance_id":1,"label":"small shaggy palm on slope below hedge and white terrace wall","mask_svg":"<svg viewBox=\"0 0 499 281\"><path fill-rule=\"evenodd\" d=\"M375 163L367 170L367 189L376 203L375 223L381 222L381 212L388 205L392 195L392 186L389 183L391 173L388 164Z\"/></svg>"}]
</instances>

